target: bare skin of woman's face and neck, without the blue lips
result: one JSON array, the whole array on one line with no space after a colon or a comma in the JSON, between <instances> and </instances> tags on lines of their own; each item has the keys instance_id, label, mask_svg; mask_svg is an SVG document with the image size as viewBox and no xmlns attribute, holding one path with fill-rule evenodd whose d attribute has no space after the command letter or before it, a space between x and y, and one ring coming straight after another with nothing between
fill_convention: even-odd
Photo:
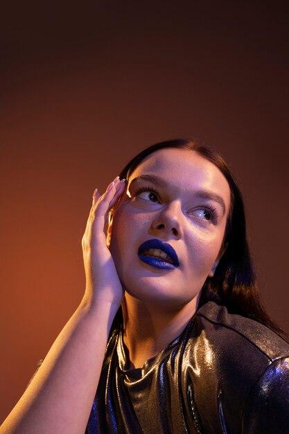
<instances>
[{"instance_id":1,"label":"bare skin of woman's face and neck, without the blue lips","mask_svg":"<svg viewBox=\"0 0 289 434\"><path fill-rule=\"evenodd\" d=\"M195 313L222 254L229 208L227 180L191 150L158 150L130 175L107 243L125 290L124 342L133 367L164 349ZM159 270L139 260L139 245L152 238L176 250L179 268Z\"/></svg>"}]
</instances>

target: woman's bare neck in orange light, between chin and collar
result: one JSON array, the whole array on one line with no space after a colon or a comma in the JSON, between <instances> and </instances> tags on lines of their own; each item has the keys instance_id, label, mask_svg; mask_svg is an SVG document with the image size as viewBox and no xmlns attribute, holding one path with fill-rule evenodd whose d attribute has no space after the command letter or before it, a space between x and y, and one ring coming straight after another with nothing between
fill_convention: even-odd
<instances>
[{"instance_id":1,"label":"woman's bare neck in orange light, between chin and collar","mask_svg":"<svg viewBox=\"0 0 289 434\"><path fill-rule=\"evenodd\" d=\"M125 293L123 300L123 341L130 368L142 367L179 336L198 306L198 297L177 310L148 304Z\"/></svg>"}]
</instances>

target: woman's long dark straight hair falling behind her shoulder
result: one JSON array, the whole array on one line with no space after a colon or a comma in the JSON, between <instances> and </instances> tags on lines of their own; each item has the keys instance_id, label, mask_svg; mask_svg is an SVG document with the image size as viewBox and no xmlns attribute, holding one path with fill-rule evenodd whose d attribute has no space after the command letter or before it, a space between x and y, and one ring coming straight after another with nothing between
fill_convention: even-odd
<instances>
[{"instance_id":1,"label":"woman's long dark straight hair falling behind her shoulder","mask_svg":"<svg viewBox=\"0 0 289 434\"><path fill-rule=\"evenodd\" d=\"M165 148L192 150L213 163L225 176L231 191L231 207L227 219L223 245L225 252L213 277L207 277L200 294L198 307L209 300L224 305L230 313L238 313L261 322L277 333L283 331L269 317L261 302L256 275L247 243L243 198L225 160L214 150L198 141L175 139L162 141L133 157L119 174L128 178L148 155Z\"/></svg>"}]
</instances>

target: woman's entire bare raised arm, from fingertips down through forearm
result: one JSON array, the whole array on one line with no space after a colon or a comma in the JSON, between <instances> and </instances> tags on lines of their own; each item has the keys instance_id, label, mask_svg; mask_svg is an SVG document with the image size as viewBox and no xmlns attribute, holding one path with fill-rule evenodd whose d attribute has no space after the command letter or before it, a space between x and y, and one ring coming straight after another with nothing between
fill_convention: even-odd
<instances>
[{"instance_id":1,"label":"woman's entire bare raised arm, from fingertips down through forearm","mask_svg":"<svg viewBox=\"0 0 289 434\"><path fill-rule=\"evenodd\" d=\"M3 422L1 434L85 432L110 328L123 298L104 228L108 212L124 189L125 182L116 178L103 196L94 192L82 238L85 297Z\"/></svg>"}]
</instances>

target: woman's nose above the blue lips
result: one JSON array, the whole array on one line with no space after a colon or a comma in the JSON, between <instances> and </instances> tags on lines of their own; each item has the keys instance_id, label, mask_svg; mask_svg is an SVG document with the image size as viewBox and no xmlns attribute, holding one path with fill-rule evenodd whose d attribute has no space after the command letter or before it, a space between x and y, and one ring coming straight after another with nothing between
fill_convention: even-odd
<instances>
[{"instance_id":1,"label":"woman's nose above the blue lips","mask_svg":"<svg viewBox=\"0 0 289 434\"><path fill-rule=\"evenodd\" d=\"M181 205L177 202L170 202L169 205L162 207L152 220L151 232L161 238L170 238L171 236L175 239L182 238L181 219Z\"/></svg>"}]
</instances>

